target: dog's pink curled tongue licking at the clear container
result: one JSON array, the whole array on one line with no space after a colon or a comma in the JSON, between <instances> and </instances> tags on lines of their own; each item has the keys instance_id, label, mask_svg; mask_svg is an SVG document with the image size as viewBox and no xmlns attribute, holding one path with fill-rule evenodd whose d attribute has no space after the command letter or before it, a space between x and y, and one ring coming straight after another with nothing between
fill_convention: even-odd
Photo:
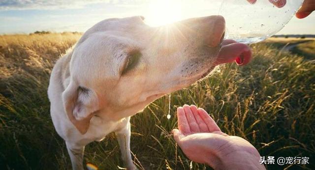
<instances>
[{"instance_id":1,"label":"dog's pink curled tongue licking at the clear container","mask_svg":"<svg viewBox=\"0 0 315 170\"><path fill-rule=\"evenodd\" d=\"M216 61L218 65L235 61L239 66L244 66L251 61L252 51L249 46L233 40L224 40L222 44Z\"/></svg>"}]
</instances>

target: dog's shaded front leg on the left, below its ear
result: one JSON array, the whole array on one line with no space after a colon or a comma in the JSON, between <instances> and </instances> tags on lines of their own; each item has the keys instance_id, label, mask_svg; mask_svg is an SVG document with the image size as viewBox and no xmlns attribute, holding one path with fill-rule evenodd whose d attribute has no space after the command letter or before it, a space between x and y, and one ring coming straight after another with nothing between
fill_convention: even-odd
<instances>
[{"instance_id":1,"label":"dog's shaded front leg on the left, below its ear","mask_svg":"<svg viewBox=\"0 0 315 170\"><path fill-rule=\"evenodd\" d=\"M67 150L71 159L72 169L73 170L84 170L83 168L83 155L84 155L84 146L78 146L65 142Z\"/></svg>"}]
</instances>

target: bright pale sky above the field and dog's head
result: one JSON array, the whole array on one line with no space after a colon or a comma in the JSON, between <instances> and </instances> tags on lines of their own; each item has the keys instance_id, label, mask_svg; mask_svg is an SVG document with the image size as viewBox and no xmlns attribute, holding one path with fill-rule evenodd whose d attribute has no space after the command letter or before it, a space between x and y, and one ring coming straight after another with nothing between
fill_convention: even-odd
<instances>
[{"instance_id":1,"label":"bright pale sky above the field and dog's head","mask_svg":"<svg viewBox=\"0 0 315 170\"><path fill-rule=\"evenodd\" d=\"M218 15L222 11L222 1L0 0L0 34L31 33L36 30L84 32L94 24L107 18L123 18L136 15L144 16L147 24L158 26L191 17ZM264 3L264 1L268 0L261 0L261 3ZM255 5L257 6L258 4ZM237 15L245 16L242 12L244 13L248 10L239 9L233 9L233 11L228 8L227 10L233 11L233 20L239 19L238 23L246 24L247 20ZM270 22L266 17L258 18L260 19L259 22L262 22L261 20L265 23ZM315 34L314 21L315 14L311 14L311 16L303 20L293 17L277 34Z\"/></svg>"}]
</instances>

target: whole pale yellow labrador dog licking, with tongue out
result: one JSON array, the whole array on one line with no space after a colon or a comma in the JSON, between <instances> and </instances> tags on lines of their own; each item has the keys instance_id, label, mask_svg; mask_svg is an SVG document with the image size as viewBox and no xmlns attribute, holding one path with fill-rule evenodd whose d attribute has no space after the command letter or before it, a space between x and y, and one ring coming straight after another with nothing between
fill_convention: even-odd
<instances>
[{"instance_id":1,"label":"whole pale yellow labrador dog licking, with tongue out","mask_svg":"<svg viewBox=\"0 0 315 170\"><path fill-rule=\"evenodd\" d=\"M221 16L150 27L143 17L95 24L60 58L50 78L51 117L72 168L83 169L84 147L115 132L122 159L130 154L130 116L165 94L189 86L218 65L247 64L251 49L222 41Z\"/></svg>"}]
</instances>

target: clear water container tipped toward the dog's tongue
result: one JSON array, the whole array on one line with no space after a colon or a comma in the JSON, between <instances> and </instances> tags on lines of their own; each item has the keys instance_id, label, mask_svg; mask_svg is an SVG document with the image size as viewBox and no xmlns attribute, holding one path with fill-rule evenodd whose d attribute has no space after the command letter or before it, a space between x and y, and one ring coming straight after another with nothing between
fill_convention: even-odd
<instances>
[{"instance_id":1,"label":"clear water container tipped toward the dog's tongue","mask_svg":"<svg viewBox=\"0 0 315 170\"><path fill-rule=\"evenodd\" d=\"M249 3L250 2L250 3ZM226 21L226 39L252 44L279 32L303 0L224 0L219 15Z\"/></svg>"}]
</instances>

